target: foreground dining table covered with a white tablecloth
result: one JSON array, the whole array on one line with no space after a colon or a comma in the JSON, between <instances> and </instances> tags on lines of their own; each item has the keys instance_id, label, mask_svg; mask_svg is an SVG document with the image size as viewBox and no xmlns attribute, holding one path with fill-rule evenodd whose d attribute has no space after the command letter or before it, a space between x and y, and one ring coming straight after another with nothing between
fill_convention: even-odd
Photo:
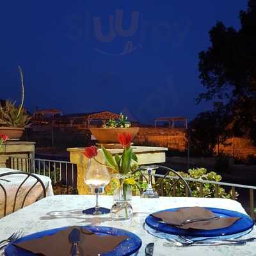
<instances>
[{"instance_id":1,"label":"foreground dining table covered with a white tablecloth","mask_svg":"<svg viewBox=\"0 0 256 256\"><path fill-rule=\"evenodd\" d=\"M161 239L143 229L143 223L148 214L163 209L177 207L216 207L246 214L243 206L226 198L195 198L195 197L159 197L141 198L132 196L133 217L130 220L111 220L110 214L99 216L86 215L82 211L95 204L93 195L56 195L43 198L28 205L19 211L13 212L0 219L0 241L9 237L15 230L22 230L24 236L49 230L52 228L68 226L100 225L105 227L122 228L140 237L142 246L138 255L146 255L145 247L154 243L154 254L163 255L196 255L196 256L245 256L256 255L256 242L246 243L243 246L189 246L189 247L165 247L165 239ZM113 196L100 195L99 204L110 208L113 205ZM255 229L244 237L255 237ZM53 245L54 246L54 245ZM57 245L56 245L57 246ZM58 244L60 246L60 244ZM4 251L1 252L4 255ZM1 255L1 254L0 254ZM68 254L67 254L68 255Z\"/></svg>"}]
</instances>

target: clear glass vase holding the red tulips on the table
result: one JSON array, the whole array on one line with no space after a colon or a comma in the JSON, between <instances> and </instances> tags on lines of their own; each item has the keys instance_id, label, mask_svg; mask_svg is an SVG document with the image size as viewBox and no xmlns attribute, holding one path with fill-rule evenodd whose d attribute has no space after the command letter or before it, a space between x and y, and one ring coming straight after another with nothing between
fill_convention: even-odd
<instances>
[{"instance_id":1,"label":"clear glass vase holding the red tulips on the table","mask_svg":"<svg viewBox=\"0 0 256 256\"><path fill-rule=\"evenodd\" d=\"M112 220L129 220L132 218L132 205L127 200L129 185L124 184L124 175L116 174L115 178L119 179L119 188L111 207L111 218Z\"/></svg>"}]
</instances>

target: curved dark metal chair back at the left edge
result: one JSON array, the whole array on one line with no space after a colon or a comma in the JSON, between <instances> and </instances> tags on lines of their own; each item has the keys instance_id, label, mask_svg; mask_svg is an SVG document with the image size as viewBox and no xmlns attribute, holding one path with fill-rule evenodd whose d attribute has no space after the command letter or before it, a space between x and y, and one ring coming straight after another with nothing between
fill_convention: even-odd
<instances>
[{"instance_id":1,"label":"curved dark metal chair back at the left edge","mask_svg":"<svg viewBox=\"0 0 256 256\"><path fill-rule=\"evenodd\" d=\"M44 186L44 182L42 182L42 180L36 176L35 174L33 173L28 173L28 172L7 172L7 173L2 173L0 174L0 178L1 177L5 177L5 176L9 176L9 175L17 175L17 174L22 174L22 175L26 175L27 177L20 183L19 185L19 188L17 189L16 193L15 193L15 198L14 198L14 204L13 204L13 209L12 209L12 212L15 211L15 206L16 206L16 202L17 202L17 196L19 194L19 191L20 191L20 188L22 188L22 185L26 182L26 180L29 179L29 177L33 177L36 179L36 182L31 186L31 188L29 188L28 192L26 193L26 195L24 196L23 200L22 200L22 205L21 205L21 208L22 209L24 207L24 204L25 204L25 201L26 201L26 198L27 196L29 195L29 192L35 188L36 184L40 183L41 186L42 186L42 189L43 189L43 195L44 197L46 197L46 189L45 189L45 186ZM7 208L7 191L6 189L4 188L3 184L1 184L0 182L0 188L3 189L3 192L4 192L4 216L6 216L6 208Z\"/></svg>"}]
</instances>

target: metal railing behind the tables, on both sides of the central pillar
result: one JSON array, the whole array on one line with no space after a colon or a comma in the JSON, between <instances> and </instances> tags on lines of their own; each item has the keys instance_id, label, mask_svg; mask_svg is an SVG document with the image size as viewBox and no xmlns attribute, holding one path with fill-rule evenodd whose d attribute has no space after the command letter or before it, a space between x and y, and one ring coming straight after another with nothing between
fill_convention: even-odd
<instances>
[{"instance_id":1,"label":"metal railing behind the tables, on both sides of the central pillar","mask_svg":"<svg viewBox=\"0 0 256 256\"><path fill-rule=\"evenodd\" d=\"M9 159L9 167L15 170L20 170L24 172L31 172L40 175L46 175L51 178L52 185L54 187L54 192L56 193L65 193L65 194L76 194L76 181L77 181L77 168L76 164L72 164L68 161L55 161L55 160L48 160L48 159L35 159L35 161L31 161L31 159L24 159L19 157L10 157ZM153 174L154 180L156 181L157 178L161 178L164 175L160 174ZM157 191L160 195L167 195L167 196L177 196L177 185L175 180L179 179L176 176L166 176L166 180L170 180L170 184L175 184L172 186L172 191L164 191L164 187L158 188ZM246 209L248 214L255 219L255 186L246 186L241 184L232 184L227 182L216 182L212 180L203 180L203 179L192 179L192 178L184 178L189 186L192 184L198 184L199 191L198 196L204 197L203 189L204 184L213 184L215 186L215 193L214 197L220 197L220 188L221 186L225 189L228 188L231 191L231 198L236 200L236 191L237 189L243 189L243 198L239 201L243 204L243 207ZM141 176L141 179L143 177ZM156 185L156 184L155 184ZM60 191L58 191L60 189ZM247 194L247 195L246 195ZM188 193L184 191L184 196L187 196ZM245 196L245 197L244 197Z\"/></svg>"}]
</instances>

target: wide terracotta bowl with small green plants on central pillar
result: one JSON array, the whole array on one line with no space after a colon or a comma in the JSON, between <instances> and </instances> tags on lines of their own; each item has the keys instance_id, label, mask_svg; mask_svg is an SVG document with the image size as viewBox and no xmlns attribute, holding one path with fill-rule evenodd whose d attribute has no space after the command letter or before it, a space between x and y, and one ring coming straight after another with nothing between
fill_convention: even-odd
<instances>
[{"instance_id":1,"label":"wide terracotta bowl with small green plants on central pillar","mask_svg":"<svg viewBox=\"0 0 256 256\"><path fill-rule=\"evenodd\" d=\"M132 134L132 139L136 136L139 131L139 127L131 127L131 123L128 122L127 116L120 113L118 120L109 119L102 128L90 128L93 136L99 141L99 143L104 144L116 144L115 147L122 147L118 141L118 134L122 132L128 132Z\"/></svg>"}]
</instances>

